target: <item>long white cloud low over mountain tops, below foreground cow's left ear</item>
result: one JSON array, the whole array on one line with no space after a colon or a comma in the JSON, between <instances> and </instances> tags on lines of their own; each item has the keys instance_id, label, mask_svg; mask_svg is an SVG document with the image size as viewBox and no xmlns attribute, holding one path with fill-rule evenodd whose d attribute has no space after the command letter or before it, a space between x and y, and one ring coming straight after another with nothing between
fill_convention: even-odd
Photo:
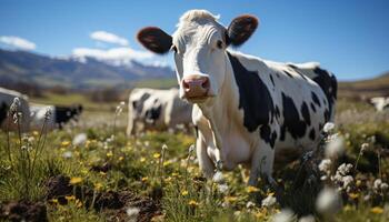
<instances>
[{"instance_id":1,"label":"long white cloud low over mountain tops, below foreground cow's left ear","mask_svg":"<svg viewBox=\"0 0 389 222\"><path fill-rule=\"evenodd\" d=\"M133 50L129 47L112 48L108 50L76 48L73 49L72 54L81 60L89 57L116 65L130 64L132 60L147 60L153 58L153 54L150 52Z\"/></svg>"}]
</instances>

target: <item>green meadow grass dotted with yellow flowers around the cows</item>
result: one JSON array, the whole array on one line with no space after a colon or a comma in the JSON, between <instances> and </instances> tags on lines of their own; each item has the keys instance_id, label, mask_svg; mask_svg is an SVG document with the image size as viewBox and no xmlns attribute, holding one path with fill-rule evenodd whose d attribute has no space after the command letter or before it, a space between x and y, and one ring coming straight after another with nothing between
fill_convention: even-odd
<instances>
[{"instance_id":1,"label":"green meadow grass dotted with yellow flowers around the cows","mask_svg":"<svg viewBox=\"0 0 389 222\"><path fill-rule=\"evenodd\" d=\"M61 104L82 101L90 108L99 105L77 94L52 94L37 101ZM343 206L331 220L388 221L388 195L372 186L378 178L388 182L389 157L383 151L388 149L389 120L385 113L376 113L369 107L346 102L338 105L337 132L346 138L347 154L333 160L335 169L342 162L355 164L362 143L369 143L369 150L362 154L358 171L351 173L355 180L351 190L341 191ZM41 202L47 206L49 221L128 221L131 219L126 213L129 208L140 209L138 219L147 214L142 203L152 203L159 209L148 218L153 221L268 221L286 208L299 216L311 214L317 220L326 220L315 208L316 196L325 185L318 182L320 175L315 174L317 161L310 160L309 164L296 161L277 171L275 176L282 184L282 192L263 183L259 189L247 188L240 169L223 174L226 186L221 189L220 184L202 178L196 153L188 151L194 143L194 133L147 132L137 139L127 139L126 113L121 113L117 117L117 133L112 138L114 110L108 110L87 112L77 125L47 134L47 143L27 184L31 191L28 196L22 192L26 186L22 174L7 158L8 151L3 149L7 134L1 132L0 205L26 199ZM353 113L350 110L371 117L355 121L355 117L349 117ZM73 144L72 140L79 133L86 133L88 139ZM40 132L28 134L34 141L39 135ZM10 138L11 155L17 157L20 152L18 133L11 132ZM167 149L162 150L164 144ZM378 151L382 151L380 158ZM47 183L58 175L73 179L69 182L72 189L66 196L48 198ZM93 196L112 192L120 198L131 192L139 199L127 199L129 201L117 209L93 208ZM268 196L277 198L277 202L261 206L261 200ZM67 202L61 203L61 199Z\"/></svg>"}]
</instances>

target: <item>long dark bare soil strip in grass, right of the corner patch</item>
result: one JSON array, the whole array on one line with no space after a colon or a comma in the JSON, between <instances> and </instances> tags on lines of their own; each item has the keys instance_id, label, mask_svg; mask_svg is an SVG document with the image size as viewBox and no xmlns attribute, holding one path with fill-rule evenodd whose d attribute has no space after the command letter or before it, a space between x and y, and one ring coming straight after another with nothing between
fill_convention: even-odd
<instances>
[{"instance_id":1,"label":"long dark bare soil strip in grass, right of the corner patch","mask_svg":"<svg viewBox=\"0 0 389 222\"><path fill-rule=\"evenodd\" d=\"M137 221L150 221L154 215L161 214L158 202L147 196L137 195L132 191L98 192L94 193L93 201L91 189L73 186L69 184L69 181L70 178L66 175L49 179L46 183L46 199L57 199L60 204L67 204L64 196L76 195L77 199L82 200L87 209L93 204L96 211L106 213L109 221L129 221L129 219L134 218Z\"/></svg>"}]
</instances>

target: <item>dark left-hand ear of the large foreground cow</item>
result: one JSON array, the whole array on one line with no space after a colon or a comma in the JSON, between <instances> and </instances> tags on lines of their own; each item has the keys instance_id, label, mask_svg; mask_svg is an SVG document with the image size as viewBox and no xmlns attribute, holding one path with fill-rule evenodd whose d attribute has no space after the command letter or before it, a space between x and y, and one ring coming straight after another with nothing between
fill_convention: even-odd
<instances>
[{"instance_id":1,"label":"dark left-hand ear of the large foreground cow","mask_svg":"<svg viewBox=\"0 0 389 222\"><path fill-rule=\"evenodd\" d=\"M170 34L157 27L147 27L137 34L138 41L148 50L163 54L171 48L172 38Z\"/></svg>"}]
</instances>

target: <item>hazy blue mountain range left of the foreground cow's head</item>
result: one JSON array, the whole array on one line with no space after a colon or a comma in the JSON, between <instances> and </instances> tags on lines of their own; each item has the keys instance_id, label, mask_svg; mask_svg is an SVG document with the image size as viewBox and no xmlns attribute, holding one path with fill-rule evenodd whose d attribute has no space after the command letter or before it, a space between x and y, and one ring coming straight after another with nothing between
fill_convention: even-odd
<instances>
[{"instance_id":1,"label":"hazy blue mountain range left of the foreground cow's head","mask_svg":"<svg viewBox=\"0 0 389 222\"><path fill-rule=\"evenodd\" d=\"M128 87L143 79L171 79L169 67L147 65L131 61L114 65L92 58L51 58L27 51L0 49L0 82L29 82L40 87L61 85L71 89Z\"/></svg>"}]
</instances>

